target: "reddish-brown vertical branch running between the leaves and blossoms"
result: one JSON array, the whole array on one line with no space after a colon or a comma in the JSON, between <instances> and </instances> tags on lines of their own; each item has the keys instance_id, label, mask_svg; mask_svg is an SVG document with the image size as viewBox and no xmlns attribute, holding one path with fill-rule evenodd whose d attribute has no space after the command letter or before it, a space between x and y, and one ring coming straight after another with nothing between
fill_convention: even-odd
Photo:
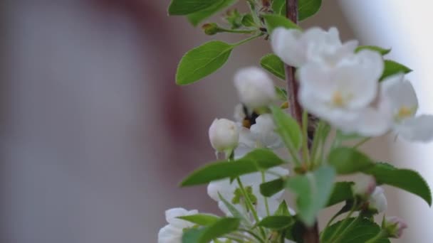
<instances>
[{"instance_id":1,"label":"reddish-brown vertical branch running between the leaves and blossoms","mask_svg":"<svg viewBox=\"0 0 433 243\"><path fill-rule=\"evenodd\" d=\"M286 0L287 11L286 16L293 23L298 23L298 0ZM286 81L288 92L288 104L290 104L291 115L299 125L302 125L302 108L298 102L299 85L295 77L296 68L286 65ZM319 243L318 223L311 228L307 228L303 233L303 241L305 243Z\"/></svg>"}]
</instances>

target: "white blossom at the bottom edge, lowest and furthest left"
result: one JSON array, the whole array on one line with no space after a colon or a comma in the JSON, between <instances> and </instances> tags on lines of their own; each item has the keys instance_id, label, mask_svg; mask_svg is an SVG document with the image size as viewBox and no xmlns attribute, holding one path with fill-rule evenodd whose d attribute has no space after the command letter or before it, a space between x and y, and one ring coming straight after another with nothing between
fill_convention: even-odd
<instances>
[{"instance_id":1,"label":"white blossom at the bottom edge, lowest and furthest left","mask_svg":"<svg viewBox=\"0 0 433 243\"><path fill-rule=\"evenodd\" d=\"M158 243L182 243L183 230L194 226L194 224L177 217L197 215L197 213L199 213L197 210L188 211L181 207L165 211L165 220L167 220L168 225L160 229Z\"/></svg>"}]
</instances>

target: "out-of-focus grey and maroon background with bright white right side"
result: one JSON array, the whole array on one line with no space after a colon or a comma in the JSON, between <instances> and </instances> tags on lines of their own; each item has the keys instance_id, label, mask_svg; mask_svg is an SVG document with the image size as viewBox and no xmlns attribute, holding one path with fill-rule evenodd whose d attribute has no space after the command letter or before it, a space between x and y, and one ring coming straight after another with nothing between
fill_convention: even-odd
<instances>
[{"instance_id":1,"label":"out-of-focus grey and maroon background with bright white right side","mask_svg":"<svg viewBox=\"0 0 433 243\"><path fill-rule=\"evenodd\" d=\"M218 212L205 187L177 183L214 159L207 129L214 117L232 117L232 75L258 65L270 48L259 40L243 45L214 75L178 87L174 73L187 50L243 37L205 36L168 17L168 4L0 2L0 242L150 243L169 207ZM343 41L392 48L390 58L414 70L421 112L433 113L432 8L430 1L324 1L302 26L337 26ZM429 185L432 148L392 136L363 147L377 160L417 169ZM387 215L409 224L396 242L432 242L432 209L409 193L385 191Z\"/></svg>"}]
</instances>

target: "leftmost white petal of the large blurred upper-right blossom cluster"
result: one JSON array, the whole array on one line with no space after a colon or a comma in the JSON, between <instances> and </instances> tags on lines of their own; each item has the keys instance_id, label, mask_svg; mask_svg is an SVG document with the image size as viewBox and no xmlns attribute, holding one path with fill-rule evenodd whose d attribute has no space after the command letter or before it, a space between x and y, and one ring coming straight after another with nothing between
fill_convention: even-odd
<instances>
[{"instance_id":1,"label":"leftmost white petal of the large blurred upper-right blossom cluster","mask_svg":"<svg viewBox=\"0 0 433 243\"><path fill-rule=\"evenodd\" d=\"M271 46L273 53L284 63L293 67L300 67L306 63L306 47L301 46L299 39L302 32L294 29L276 28L272 32Z\"/></svg>"}]
</instances>

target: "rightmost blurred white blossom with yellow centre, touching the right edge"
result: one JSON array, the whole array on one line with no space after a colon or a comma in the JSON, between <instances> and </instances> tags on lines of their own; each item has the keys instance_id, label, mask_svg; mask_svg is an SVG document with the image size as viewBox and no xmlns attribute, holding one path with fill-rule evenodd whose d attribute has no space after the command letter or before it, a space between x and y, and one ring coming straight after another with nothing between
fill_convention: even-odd
<instances>
[{"instance_id":1,"label":"rightmost blurred white blossom with yellow centre, touching the right edge","mask_svg":"<svg viewBox=\"0 0 433 243\"><path fill-rule=\"evenodd\" d=\"M395 75L383 80L382 84L385 95L391 100L395 132L409 141L432 141L433 116L415 116L418 99L409 80L405 80L404 75Z\"/></svg>"}]
</instances>

